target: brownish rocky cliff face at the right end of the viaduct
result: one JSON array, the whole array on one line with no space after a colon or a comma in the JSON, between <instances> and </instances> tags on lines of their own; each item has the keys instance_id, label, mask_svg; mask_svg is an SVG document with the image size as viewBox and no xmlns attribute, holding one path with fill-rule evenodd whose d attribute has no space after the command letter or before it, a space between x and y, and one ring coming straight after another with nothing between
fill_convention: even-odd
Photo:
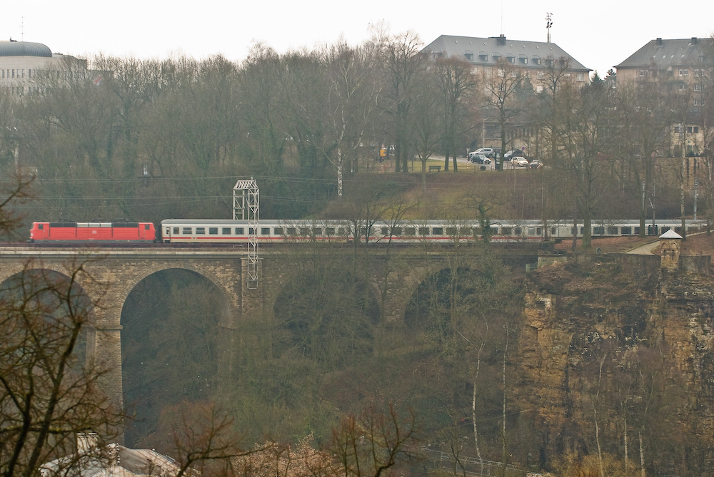
<instances>
[{"instance_id":1,"label":"brownish rocky cliff face at the right end of the viaduct","mask_svg":"<svg viewBox=\"0 0 714 477\"><path fill-rule=\"evenodd\" d=\"M546 429L543 452L595 453L599 440L623 457L626 441L639 461L642 434L653 468L713 462L710 277L633 270L616 255L538 270L517 362L519 406Z\"/></svg>"}]
</instances>

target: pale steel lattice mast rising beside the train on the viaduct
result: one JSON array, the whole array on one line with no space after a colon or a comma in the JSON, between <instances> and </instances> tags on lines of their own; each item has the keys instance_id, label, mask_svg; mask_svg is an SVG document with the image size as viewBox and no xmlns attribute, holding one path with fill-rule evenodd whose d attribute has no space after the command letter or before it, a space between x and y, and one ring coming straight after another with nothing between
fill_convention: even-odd
<instances>
[{"instance_id":1,"label":"pale steel lattice mast rising beside the train on the viaduct","mask_svg":"<svg viewBox=\"0 0 714 477\"><path fill-rule=\"evenodd\" d=\"M260 190L253 178L239 179L233 186L233 220L248 220L249 289L258 288L258 220L261 205Z\"/></svg>"}]
</instances>

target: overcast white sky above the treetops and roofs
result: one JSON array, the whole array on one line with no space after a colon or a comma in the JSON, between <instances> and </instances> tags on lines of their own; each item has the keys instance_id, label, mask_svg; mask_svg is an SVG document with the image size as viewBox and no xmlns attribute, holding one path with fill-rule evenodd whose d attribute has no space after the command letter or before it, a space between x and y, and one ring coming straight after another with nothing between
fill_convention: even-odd
<instances>
[{"instance_id":1,"label":"overcast white sky above the treetops and roofs","mask_svg":"<svg viewBox=\"0 0 714 477\"><path fill-rule=\"evenodd\" d=\"M14 0L3 2L0 39L44 43L56 53L138 58L221 53L246 58L257 41L278 52L356 44L383 23L392 34L413 31L423 43L438 36L551 39L587 68L609 68L655 38L714 33L714 1L690 0Z\"/></svg>"}]
</instances>

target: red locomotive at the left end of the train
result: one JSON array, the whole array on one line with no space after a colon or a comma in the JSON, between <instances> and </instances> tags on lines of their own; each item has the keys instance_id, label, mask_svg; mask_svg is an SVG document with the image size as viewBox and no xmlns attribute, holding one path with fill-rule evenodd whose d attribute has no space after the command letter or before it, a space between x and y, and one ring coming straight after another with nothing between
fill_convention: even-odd
<instances>
[{"instance_id":1,"label":"red locomotive at the left end of the train","mask_svg":"<svg viewBox=\"0 0 714 477\"><path fill-rule=\"evenodd\" d=\"M151 222L32 222L30 242L147 243L154 242Z\"/></svg>"}]
</instances>

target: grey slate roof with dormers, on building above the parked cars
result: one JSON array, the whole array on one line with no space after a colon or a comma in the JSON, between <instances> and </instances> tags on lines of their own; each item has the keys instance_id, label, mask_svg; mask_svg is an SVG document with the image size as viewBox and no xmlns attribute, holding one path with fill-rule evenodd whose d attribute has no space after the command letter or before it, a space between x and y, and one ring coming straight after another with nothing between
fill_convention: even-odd
<instances>
[{"instance_id":1,"label":"grey slate roof with dormers, on building above the parked cars","mask_svg":"<svg viewBox=\"0 0 714 477\"><path fill-rule=\"evenodd\" d=\"M555 43L545 43L541 41L518 41L507 39L505 36L491 36L490 38L476 38L473 36L453 36L441 35L438 39L429 43L422 50L425 53L442 53L443 56L468 59L468 53L473 55L471 64L473 65L495 65L498 58L513 56L516 58L515 64L521 68L543 69L543 64L537 64L533 58L560 58L568 59L568 69L574 71L589 72L590 68L585 68L582 63L575 60L563 48ZM528 63L523 64L520 58L528 58Z\"/></svg>"}]
</instances>

